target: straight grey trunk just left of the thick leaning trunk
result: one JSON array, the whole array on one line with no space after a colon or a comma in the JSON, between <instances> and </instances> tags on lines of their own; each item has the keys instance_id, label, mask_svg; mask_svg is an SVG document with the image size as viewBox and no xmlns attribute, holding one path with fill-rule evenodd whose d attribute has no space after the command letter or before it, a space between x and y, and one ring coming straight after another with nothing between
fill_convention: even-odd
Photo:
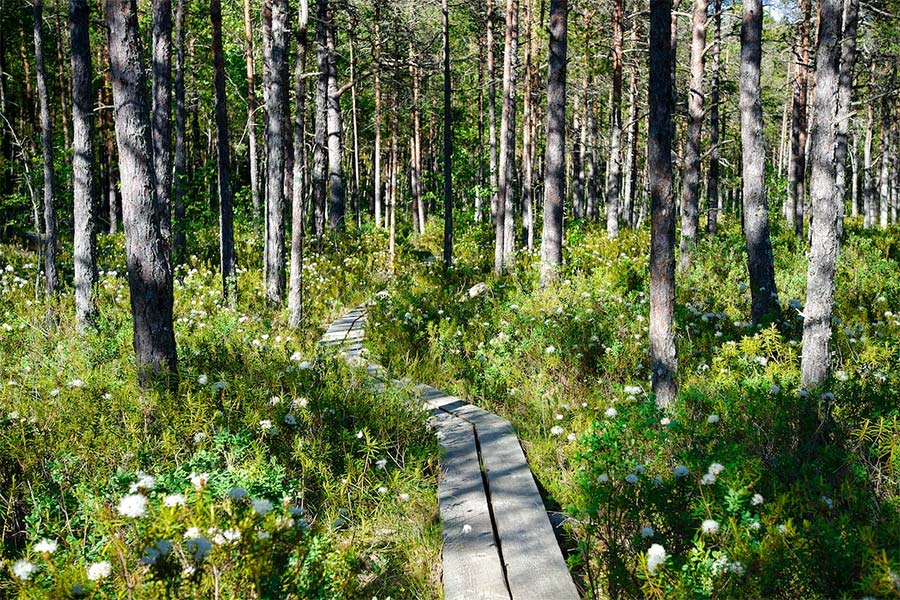
<instances>
[{"instance_id":1,"label":"straight grey trunk just left of the thick leaning trunk","mask_svg":"<svg viewBox=\"0 0 900 600\"><path fill-rule=\"evenodd\" d=\"M75 210L75 325L84 332L96 317L97 240L94 207L94 94L91 90L87 0L69 0L72 52L72 174Z\"/></svg>"}]
</instances>

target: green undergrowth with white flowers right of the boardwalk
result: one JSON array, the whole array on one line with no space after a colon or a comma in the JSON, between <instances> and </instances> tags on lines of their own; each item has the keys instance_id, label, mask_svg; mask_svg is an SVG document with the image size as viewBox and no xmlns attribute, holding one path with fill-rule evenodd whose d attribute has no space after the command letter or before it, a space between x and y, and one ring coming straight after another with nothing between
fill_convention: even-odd
<instances>
[{"instance_id":1,"label":"green undergrowth with white flowers right of the boardwalk","mask_svg":"<svg viewBox=\"0 0 900 600\"><path fill-rule=\"evenodd\" d=\"M648 232L575 222L559 282L538 255L496 277L489 224L456 264L410 261L370 311L396 373L509 418L588 597L900 595L900 243L846 228L832 379L799 383L806 258L773 225L782 308L750 323L739 223L677 278L680 393L650 393ZM417 256L439 256L436 222Z\"/></svg>"}]
</instances>

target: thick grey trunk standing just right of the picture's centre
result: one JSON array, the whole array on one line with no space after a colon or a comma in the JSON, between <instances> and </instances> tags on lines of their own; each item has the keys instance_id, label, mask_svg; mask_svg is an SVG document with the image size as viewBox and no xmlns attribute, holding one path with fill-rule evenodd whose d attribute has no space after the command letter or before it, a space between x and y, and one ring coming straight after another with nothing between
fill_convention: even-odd
<instances>
[{"instance_id":1,"label":"thick grey trunk standing just right of the picture's centre","mask_svg":"<svg viewBox=\"0 0 900 600\"><path fill-rule=\"evenodd\" d=\"M562 264L563 203L566 197L566 53L568 0L550 3L550 67L547 72L547 144L544 156L544 226L541 285L557 277Z\"/></svg>"}]
</instances>

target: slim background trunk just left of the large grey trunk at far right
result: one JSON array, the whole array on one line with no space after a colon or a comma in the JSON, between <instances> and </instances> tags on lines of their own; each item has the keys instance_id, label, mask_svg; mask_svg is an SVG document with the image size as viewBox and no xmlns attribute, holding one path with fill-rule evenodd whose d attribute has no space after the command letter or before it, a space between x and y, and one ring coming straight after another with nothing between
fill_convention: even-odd
<instances>
[{"instance_id":1,"label":"slim background trunk just left of the large grey trunk at far right","mask_svg":"<svg viewBox=\"0 0 900 600\"><path fill-rule=\"evenodd\" d=\"M788 177L788 222L797 237L803 237L803 205L806 189L806 104L809 74L810 0L799 0L800 30L797 37L797 77L794 80L794 99L791 108L791 165Z\"/></svg>"}]
</instances>

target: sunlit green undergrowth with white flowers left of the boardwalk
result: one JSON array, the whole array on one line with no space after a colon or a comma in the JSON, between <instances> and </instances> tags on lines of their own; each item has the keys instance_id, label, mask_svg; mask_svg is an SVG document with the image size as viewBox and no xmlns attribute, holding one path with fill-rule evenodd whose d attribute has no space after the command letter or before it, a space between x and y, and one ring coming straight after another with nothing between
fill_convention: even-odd
<instances>
[{"instance_id":1,"label":"sunlit green undergrowth with white flowers left of the boardwalk","mask_svg":"<svg viewBox=\"0 0 900 600\"><path fill-rule=\"evenodd\" d=\"M176 271L174 394L138 390L121 236L84 336L71 290L36 294L35 255L0 247L0 597L439 597L427 415L316 344L383 287L386 236L308 250L298 330L237 237L234 307L214 231Z\"/></svg>"}]
</instances>

